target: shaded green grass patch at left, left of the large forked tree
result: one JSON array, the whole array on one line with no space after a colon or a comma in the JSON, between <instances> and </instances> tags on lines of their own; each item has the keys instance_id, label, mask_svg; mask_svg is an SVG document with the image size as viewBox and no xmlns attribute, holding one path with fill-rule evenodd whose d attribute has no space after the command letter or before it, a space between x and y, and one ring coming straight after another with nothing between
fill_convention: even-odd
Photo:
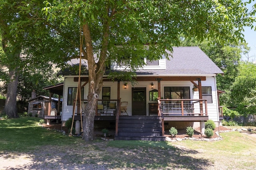
<instances>
[{"instance_id":1,"label":"shaded green grass patch at left, left of the large forked tree","mask_svg":"<svg viewBox=\"0 0 256 170\"><path fill-rule=\"evenodd\" d=\"M49 131L38 125L38 117L0 120L0 151L26 152L45 145L70 145L76 138Z\"/></svg>"}]
</instances>

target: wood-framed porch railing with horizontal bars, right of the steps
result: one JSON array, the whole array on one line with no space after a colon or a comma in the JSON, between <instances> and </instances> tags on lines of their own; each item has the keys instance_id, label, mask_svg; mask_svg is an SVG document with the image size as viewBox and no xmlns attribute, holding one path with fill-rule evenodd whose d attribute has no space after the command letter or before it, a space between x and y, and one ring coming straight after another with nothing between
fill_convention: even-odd
<instances>
[{"instance_id":1,"label":"wood-framed porch railing with horizontal bars, right of the steps","mask_svg":"<svg viewBox=\"0 0 256 170\"><path fill-rule=\"evenodd\" d=\"M161 105L161 114L167 116L207 116L206 99L158 99Z\"/></svg>"}]
</instances>

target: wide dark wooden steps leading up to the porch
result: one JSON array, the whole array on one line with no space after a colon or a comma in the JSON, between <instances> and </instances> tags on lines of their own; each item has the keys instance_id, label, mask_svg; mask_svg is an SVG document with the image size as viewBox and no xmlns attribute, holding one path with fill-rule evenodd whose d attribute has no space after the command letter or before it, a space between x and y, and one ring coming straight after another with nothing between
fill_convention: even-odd
<instances>
[{"instance_id":1,"label":"wide dark wooden steps leading up to the porch","mask_svg":"<svg viewBox=\"0 0 256 170\"><path fill-rule=\"evenodd\" d=\"M165 141L158 116L120 116L115 140Z\"/></svg>"}]
</instances>

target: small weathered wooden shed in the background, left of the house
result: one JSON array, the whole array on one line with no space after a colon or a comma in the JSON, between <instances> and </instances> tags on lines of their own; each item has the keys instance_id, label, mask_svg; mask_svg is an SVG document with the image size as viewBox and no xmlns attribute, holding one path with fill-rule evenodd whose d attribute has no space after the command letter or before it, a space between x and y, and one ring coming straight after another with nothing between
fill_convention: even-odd
<instances>
[{"instance_id":1,"label":"small weathered wooden shed in the background, left of the house","mask_svg":"<svg viewBox=\"0 0 256 170\"><path fill-rule=\"evenodd\" d=\"M52 98L52 109L51 115L57 115L58 108L58 98ZM38 117L44 118L44 115L48 115L48 104L49 104L49 97L47 96L37 96L36 98L32 98L28 100L28 114L32 113L32 116L36 114ZM62 106L62 100L60 101L60 106Z\"/></svg>"}]
</instances>

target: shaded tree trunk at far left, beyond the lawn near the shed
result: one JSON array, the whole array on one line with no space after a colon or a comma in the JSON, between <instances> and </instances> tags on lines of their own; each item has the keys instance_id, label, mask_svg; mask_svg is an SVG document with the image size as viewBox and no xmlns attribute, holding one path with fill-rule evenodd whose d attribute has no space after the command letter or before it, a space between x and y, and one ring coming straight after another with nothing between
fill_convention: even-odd
<instances>
[{"instance_id":1,"label":"shaded tree trunk at far left, beyond the lawn near the shed","mask_svg":"<svg viewBox=\"0 0 256 170\"><path fill-rule=\"evenodd\" d=\"M7 96L4 105L4 112L9 118L19 117L16 108L17 86L18 86L18 74L15 70L9 70L9 82L7 87Z\"/></svg>"}]
</instances>

